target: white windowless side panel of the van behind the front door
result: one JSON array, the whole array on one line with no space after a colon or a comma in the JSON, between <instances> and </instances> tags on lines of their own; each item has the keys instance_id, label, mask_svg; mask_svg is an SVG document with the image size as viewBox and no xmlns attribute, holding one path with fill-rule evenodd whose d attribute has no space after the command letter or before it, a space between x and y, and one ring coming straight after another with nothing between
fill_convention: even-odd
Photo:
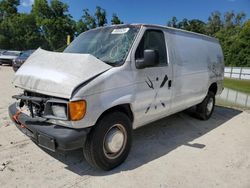
<instances>
[{"instance_id":1,"label":"white windowless side panel of the van behind the front door","mask_svg":"<svg viewBox=\"0 0 250 188\"><path fill-rule=\"evenodd\" d=\"M220 84L223 55L214 39L172 30L168 35L174 75L172 111L177 112L200 103L212 83Z\"/></svg>"}]
</instances>

